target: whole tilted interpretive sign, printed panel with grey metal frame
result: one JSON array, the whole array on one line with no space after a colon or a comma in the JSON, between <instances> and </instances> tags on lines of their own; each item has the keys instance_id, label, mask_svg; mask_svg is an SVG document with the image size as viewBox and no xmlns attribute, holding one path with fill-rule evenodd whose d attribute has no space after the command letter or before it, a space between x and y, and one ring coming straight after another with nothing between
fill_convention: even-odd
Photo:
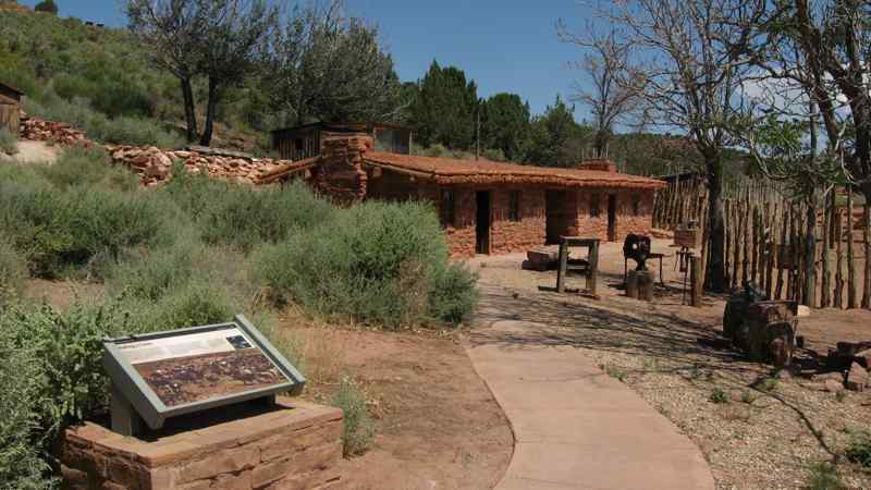
<instances>
[{"instance_id":1,"label":"whole tilted interpretive sign, printed panel with grey metal frame","mask_svg":"<svg viewBox=\"0 0 871 490\"><path fill-rule=\"evenodd\" d=\"M157 429L168 417L298 393L305 384L242 315L231 323L107 339L103 345L113 430L122 433L137 431L136 415Z\"/></svg>"}]
</instances>

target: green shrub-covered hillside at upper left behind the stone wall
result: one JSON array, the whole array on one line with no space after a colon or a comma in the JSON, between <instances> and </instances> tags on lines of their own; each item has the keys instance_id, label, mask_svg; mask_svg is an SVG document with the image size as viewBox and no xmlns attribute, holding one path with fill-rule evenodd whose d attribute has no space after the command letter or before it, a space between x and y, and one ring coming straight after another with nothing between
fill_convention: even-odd
<instances>
[{"instance_id":1,"label":"green shrub-covered hillside at upper left behind the stone wall","mask_svg":"<svg viewBox=\"0 0 871 490\"><path fill-rule=\"evenodd\" d=\"M124 29L30 12L2 0L0 81L25 93L28 113L72 123L93 139L182 144L177 82L151 68ZM254 102L262 97L250 91L232 88L225 98L230 102L219 106L216 146L257 150L265 145L263 110Z\"/></svg>"}]
</instances>

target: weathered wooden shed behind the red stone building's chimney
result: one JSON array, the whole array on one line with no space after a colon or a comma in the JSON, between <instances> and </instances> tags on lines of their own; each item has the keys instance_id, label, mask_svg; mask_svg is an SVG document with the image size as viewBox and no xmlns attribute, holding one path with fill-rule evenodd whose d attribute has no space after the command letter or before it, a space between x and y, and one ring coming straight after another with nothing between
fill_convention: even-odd
<instances>
[{"instance_id":1,"label":"weathered wooden shed behind the red stone building's chimney","mask_svg":"<svg viewBox=\"0 0 871 490\"><path fill-rule=\"evenodd\" d=\"M272 132L272 148L281 158L303 160L320 155L324 138L331 134L366 133L378 151L408 155L412 152L412 130L398 124L376 122L319 122L285 127Z\"/></svg>"}]
</instances>

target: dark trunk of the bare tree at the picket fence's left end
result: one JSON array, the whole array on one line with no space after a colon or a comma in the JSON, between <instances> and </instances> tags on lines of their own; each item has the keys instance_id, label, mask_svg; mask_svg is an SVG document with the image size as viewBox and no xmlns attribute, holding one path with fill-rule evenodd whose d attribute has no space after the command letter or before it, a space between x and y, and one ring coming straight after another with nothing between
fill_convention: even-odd
<instances>
[{"instance_id":1,"label":"dark trunk of the bare tree at the picket fence's left end","mask_svg":"<svg viewBox=\"0 0 871 490\"><path fill-rule=\"evenodd\" d=\"M719 152L708 152L704 156L704 164L708 169L708 224L710 233L710 256L708 262L708 274L710 278L711 291L724 293L725 284L725 264L723 250L725 248L726 231L723 220L723 162Z\"/></svg>"}]
</instances>

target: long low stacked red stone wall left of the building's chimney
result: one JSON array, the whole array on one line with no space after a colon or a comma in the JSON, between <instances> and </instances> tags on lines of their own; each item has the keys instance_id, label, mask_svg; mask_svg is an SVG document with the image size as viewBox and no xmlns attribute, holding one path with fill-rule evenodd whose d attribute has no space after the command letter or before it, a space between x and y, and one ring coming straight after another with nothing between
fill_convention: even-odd
<instances>
[{"instance_id":1,"label":"long low stacked red stone wall left of the building's chimney","mask_svg":"<svg viewBox=\"0 0 871 490\"><path fill-rule=\"evenodd\" d=\"M157 185L172 176L174 162L181 162L193 174L205 172L217 179L242 184L257 184L260 176L287 160L241 156L204 155L189 150L161 150L157 147L107 146L114 164L127 167L139 174L143 185Z\"/></svg>"}]
</instances>

